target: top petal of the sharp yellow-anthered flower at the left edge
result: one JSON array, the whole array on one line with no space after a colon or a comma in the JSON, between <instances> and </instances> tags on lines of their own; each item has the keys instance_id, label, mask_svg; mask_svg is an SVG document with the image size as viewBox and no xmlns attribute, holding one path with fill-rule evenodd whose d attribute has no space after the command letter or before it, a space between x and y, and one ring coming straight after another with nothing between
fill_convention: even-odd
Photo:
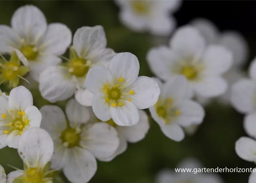
<instances>
[{"instance_id":1,"label":"top petal of the sharp yellow-anthered flower at the left edge","mask_svg":"<svg viewBox=\"0 0 256 183\"><path fill-rule=\"evenodd\" d=\"M24 86L13 88L9 95L9 106L11 110L24 111L33 106L32 94Z\"/></svg>"}]
</instances>

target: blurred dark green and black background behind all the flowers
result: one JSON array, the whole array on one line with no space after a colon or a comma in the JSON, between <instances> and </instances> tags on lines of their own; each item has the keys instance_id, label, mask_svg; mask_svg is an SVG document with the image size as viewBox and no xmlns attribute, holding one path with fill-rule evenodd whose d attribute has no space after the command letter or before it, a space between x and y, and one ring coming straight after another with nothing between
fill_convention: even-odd
<instances>
[{"instance_id":1,"label":"blurred dark green and black background behind all the flowers","mask_svg":"<svg viewBox=\"0 0 256 183\"><path fill-rule=\"evenodd\" d=\"M119 8L113 0L1 0L0 24L10 25L13 12L26 4L38 6L48 23L64 23L73 33L82 26L102 25L108 47L116 52L135 54L140 61L140 75L153 76L145 56L159 38L147 33L134 33L123 26L118 19ZM204 17L213 21L221 31L232 29L242 33L250 46L250 58L243 68L246 71L249 61L256 55L255 9L255 0L184 0L174 17L178 26L196 17ZM169 38L161 37L161 40L168 43ZM40 98L39 92L31 92L38 108L48 104ZM63 106L63 103L57 105ZM234 150L235 141L247 136L243 130L243 115L216 101L205 110L203 124L193 136L187 135L182 142L168 139L151 119L146 138L137 144L129 144L128 150L112 162L98 162L98 170L91 183L153 183L160 170L175 168L187 157L197 158L206 168L255 168L255 164L242 160ZM1 149L0 164L7 173L14 170L7 164L23 168L16 149ZM249 173L220 173L220 176L226 183L248 182ZM68 182L65 178L64 181Z\"/></svg>"}]
</instances>

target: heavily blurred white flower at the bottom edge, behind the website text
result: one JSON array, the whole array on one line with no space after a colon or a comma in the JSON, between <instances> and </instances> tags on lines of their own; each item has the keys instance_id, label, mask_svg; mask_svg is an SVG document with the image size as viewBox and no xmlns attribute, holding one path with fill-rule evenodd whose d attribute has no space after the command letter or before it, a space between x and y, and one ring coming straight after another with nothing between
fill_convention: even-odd
<instances>
[{"instance_id":1,"label":"heavily blurred white flower at the bottom edge, behind the website text","mask_svg":"<svg viewBox=\"0 0 256 183\"><path fill-rule=\"evenodd\" d=\"M202 168L197 160L194 159L185 159L183 160L177 168ZM204 173L204 172L175 172L174 170L162 170L159 172L156 178L156 183L180 183L180 182L189 182L189 183L198 183L198 182L207 182L207 183L223 183L223 180L214 173Z\"/></svg>"}]
</instances>

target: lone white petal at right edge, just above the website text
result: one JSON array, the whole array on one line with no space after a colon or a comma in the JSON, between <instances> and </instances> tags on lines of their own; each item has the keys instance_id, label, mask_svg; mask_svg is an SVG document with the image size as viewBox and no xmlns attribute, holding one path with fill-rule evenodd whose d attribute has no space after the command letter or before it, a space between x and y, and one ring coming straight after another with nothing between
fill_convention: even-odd
<instances>
[{"instance_id":1,"label":"lone white petal at right edge, just above the website text","mask_svg":"<svg viewBox=\"0 0 256 183\"><path fill-rule=\"evenodd\" d=\"M256 141L249 137L241 137L237 140L235 150L243 160L256 162Z\"/></svg>"}]
</instances>

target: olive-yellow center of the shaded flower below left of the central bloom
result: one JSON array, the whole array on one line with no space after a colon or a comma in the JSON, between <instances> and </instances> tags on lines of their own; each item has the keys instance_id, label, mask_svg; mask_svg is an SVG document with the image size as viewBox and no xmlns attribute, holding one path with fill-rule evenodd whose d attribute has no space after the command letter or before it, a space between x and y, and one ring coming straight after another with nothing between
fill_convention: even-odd
<instances>
[{"instance_id":1,"label":"olive-yellow center of the shaded flower below left of the central bloom","mask_svg":"<svg viewBox=\"0 0 256 183\"><path fill-rule=\"evenodd\" d=\"M80 132L78 133L74 128L67 128L62 132L60 139L62 140L62 143L68 148L79 146Z\"/></svg>"}]
</instances>

